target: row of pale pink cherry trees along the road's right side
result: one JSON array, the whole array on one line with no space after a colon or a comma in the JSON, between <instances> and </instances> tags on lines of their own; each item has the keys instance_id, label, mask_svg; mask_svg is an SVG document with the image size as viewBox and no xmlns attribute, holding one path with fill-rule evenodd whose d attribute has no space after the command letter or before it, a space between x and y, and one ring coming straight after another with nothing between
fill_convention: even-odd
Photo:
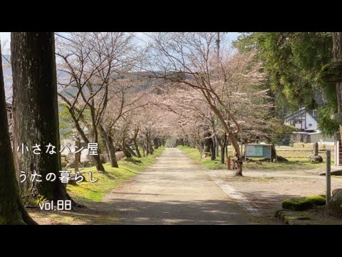
<instances>
[{"instance_id":1,"label":"row of pale pink cherry trees along the road's right side","mask_svg":"<svg viewBox=\"0 0 342 257\"><path fill-rule=\"evenodd\" d=\"M170 126L181 138L203 151L214 152L214 141L222 146L227 139L234 148L237 175L242 175L239 135L267 137L265 117L271 104L264 89L261 63L254 53L240 54L222 48L217 51L216 33L159 33L152 38L151 58L156 72L151 77L165 81L160 108L175 117ZM177 121L177 122L175 122ZM224 161L224 154L222 161ZM215 156L212 153L212 159Z\"/></svg>"}]
</instances>

